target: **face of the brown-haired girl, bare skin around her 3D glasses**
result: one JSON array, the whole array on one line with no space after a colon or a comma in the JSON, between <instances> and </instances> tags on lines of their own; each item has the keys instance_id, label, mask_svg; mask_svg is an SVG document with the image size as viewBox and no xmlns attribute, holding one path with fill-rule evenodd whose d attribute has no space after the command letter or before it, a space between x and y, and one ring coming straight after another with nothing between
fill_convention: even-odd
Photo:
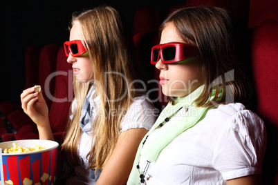
<instances>
[{"instance_id":1,"label":"face of the brown-haired girl, bare skin around her 3D glasses","mask_svg":"<svg viewBox=\"0 0 278 185\"><path fill-rule=\"evenodd\" d=\"M160 44L169 42L185 43L173 23L168 23L161 34ZM160 85L164 95L185 97L203 84L200 57L194 57L193 61L183 64L163 64L159 60L156 68L160 70Z\"/></svg>"}]
</instances>

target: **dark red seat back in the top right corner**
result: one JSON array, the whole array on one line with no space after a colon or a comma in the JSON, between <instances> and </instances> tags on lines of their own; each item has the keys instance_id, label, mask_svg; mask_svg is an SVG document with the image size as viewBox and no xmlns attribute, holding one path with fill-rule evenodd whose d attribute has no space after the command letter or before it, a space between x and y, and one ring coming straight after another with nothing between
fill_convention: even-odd
<instances>
[{"instance_id":1,"label":"dark red seat back in the top right corner","mask_svg":"<svg viewBox=\"0 0 278 185\"><path fill-rule=\"evenodd\" d=\"M277 0L250 0L248 28L259 26L266 19L278 22Z\"/></svg>"}]
</instances>

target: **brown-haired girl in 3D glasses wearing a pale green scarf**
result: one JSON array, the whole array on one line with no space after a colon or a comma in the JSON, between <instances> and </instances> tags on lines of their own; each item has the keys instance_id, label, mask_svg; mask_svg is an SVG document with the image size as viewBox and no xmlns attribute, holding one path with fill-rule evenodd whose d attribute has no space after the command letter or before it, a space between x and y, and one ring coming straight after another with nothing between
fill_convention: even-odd
<instances>
[{"instance_id":1,"label":"brown-haired girl in 3D glasses wearing a pale green scarf","mask_svg":"<svg viewBox=\"0 0 278 185\"><path fill-rule=\"evenodd\" d=\"M151 64L170 99L140 143L128 185L258 184L263 121L241 103L248 83L221 8L182 8L160 27Z\"/></svg>"}]
</instances>

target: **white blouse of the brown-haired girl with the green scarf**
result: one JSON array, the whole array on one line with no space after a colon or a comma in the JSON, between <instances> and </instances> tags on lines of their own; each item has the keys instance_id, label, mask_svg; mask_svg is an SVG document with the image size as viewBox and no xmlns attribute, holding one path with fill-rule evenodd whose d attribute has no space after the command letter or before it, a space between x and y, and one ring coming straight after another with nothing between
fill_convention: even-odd
<instances>
[{"instance_id":1,"label":"white blouse of the brown-haired girl with the green scarf","mask_svg":"<svg viewBox=\"0 0 278 185\"><path fill-rule=\"evenodd\" d=\"M149 135L142 151L183 119L181 111ZM265 147L265 126L256 114L239 103L220 105L168 144L149 168L142 156L139 166L147 171L144 184L227 184L227 179L261 173Z\"/></svg>"}]
</instances>

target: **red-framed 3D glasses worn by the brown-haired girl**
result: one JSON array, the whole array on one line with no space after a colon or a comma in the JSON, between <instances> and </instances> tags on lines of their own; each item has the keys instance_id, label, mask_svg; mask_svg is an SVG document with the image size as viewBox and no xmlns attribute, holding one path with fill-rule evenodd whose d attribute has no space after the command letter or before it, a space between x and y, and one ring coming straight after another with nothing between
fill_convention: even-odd
<instances>
[{"instance_id":1,"label":"red-framed 3D glasses worn by the brown-haired girl","mask_svg":"<svg viewBox=\"0 0 278 185\"><path fill-rule=\"evenodd\" d=\"M186 43L169 42L158 44L151 48L151 64L156 64L159 59L163 64L182 63L185 59L200 55L196 46Z\"/></svg>"}]
</instances>

